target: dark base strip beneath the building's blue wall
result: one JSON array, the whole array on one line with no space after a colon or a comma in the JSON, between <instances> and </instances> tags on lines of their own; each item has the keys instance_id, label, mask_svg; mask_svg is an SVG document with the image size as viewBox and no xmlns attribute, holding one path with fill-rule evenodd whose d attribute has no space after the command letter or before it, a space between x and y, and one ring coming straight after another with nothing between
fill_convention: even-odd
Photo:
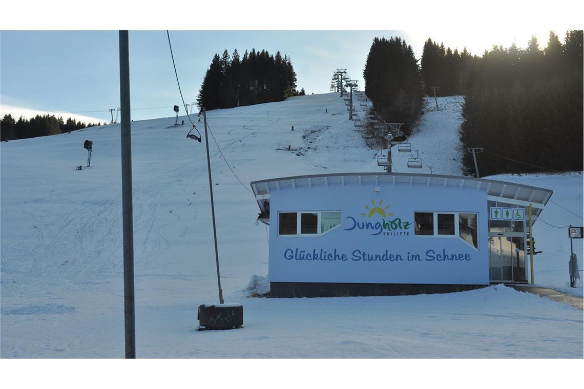
<instances>
[{"instance_id":1,"label":"dark base strip beneath the building's blue wall","mask_svg":"<svg viewBox=\"0 0 584 389\"><path fill-rule=\"evenodd\" d=\"M488 285L427 283L270 282L270 297L406 296L452 293Z\"/></svg>"}]
</instances>

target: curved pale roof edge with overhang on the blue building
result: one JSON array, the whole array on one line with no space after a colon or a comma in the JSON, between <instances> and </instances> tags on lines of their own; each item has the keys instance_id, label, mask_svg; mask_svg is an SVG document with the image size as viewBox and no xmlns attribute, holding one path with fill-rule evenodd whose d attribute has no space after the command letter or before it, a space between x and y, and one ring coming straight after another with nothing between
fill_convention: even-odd
<instances>
[{"instance_id":1,"label":"curved pale roof edge with overhang on the blue building","mask_svg":"<svg viewBox=\"0 0 584 389\"><path fill-rule=\"evenodd\" d=\"M253 194L258 201L262 215L269 215L270 192L286 188L328 187L329 185L363 185L363 184L407 184L426 187L457 187L485 190L489 200L527 206L531 204L532 215L537 216L552 195L545 188L531 187L507 181L487 180L467 176L444 176L441 174L419 173L333 173L312 174L309 176L293 176L271 178L269 180L252 181Z\"/></svg>"}]
</instances>

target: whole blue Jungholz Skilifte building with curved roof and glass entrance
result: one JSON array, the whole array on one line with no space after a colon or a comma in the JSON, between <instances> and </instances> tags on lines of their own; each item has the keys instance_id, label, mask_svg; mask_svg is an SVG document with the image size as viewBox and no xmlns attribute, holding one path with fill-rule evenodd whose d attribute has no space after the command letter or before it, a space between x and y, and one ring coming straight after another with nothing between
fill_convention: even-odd
<instances>
[{"instance_id":1,"label":"whole blue Jungholz Skilifte building with curved roof and glass entrance","mask_svg":"<svg viewBox=\"0 0 584 389\"><path fill-rule=\"evenodd\" d=\"M453 292L530 282L532 223L552 195L483 178L316 174L253 181L274 297Z\"/></svg>"}]
</instances>

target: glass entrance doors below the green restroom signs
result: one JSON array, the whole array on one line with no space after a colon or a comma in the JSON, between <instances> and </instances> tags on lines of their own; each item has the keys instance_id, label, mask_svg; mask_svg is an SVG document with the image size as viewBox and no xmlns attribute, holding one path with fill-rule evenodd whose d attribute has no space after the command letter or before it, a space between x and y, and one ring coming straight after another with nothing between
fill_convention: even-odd
<instances>
[{"instance_id":1,"label":"glass entrance doors below the green restroom signs","mask_svg":"<svg viewBox=\"0 0 584 389\"><path fill-rule=\"evenodd\" d=\"M524 241L523 237L489 237L491 282L527 281Z\"/></svg>"}]
</instances>

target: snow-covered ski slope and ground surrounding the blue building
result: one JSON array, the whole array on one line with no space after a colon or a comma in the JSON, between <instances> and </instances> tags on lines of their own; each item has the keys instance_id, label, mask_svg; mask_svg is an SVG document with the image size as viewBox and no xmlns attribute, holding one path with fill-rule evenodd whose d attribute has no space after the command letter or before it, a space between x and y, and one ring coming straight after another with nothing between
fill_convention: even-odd
<instances>
[{"instance_id":1,"label":"snow-covered ski slope and ground surrounding the blue building","mask_svg":"<svg viewBox=\"0 0 584 389\"><path fill-rule=\"evenodd\" d=\"M450 108L427 113L411 137L433 173L460 173L457 99L439 100ZM186 117L179 122L183 119L188 122ZM214 110L207 119L244 183L232 175L211 138L221 283L226 300L244 303L245 327L194 331L197 306L217 301L204 143L185 137L187 125L171 127L174 118L135 121L138 356L582 356L580 311L502 287L442 296L246 299L250 278L267 273L266 227L255 223L258 207L249 182L324 171L383 171L376 163L379 151L367 149L354 132L338 94ZM109 125L0 144L2 357L123 356L119 130L119 125ZM75 166L85 166L85 139L93 141L92 166L76 171ZM406 171L397 163L398 171ZM566 196L552 199L578 211L575 196L582 197L581 181L559 176L543 182L541 177L533 182L529 176L515 178L551 185ZM566 187L565 180L580 183L580 190L576 184ZM561 213L547 217L558 226L577 222ZM547 232L537 227L536 234ZM557 242L548 248L538 240L538 250L549 258L559 253L561 264L555 267L549 259L548 265L536 265L536 281L564 285L566 243L559 253ZM526 324L524 317L534 311L541 320ZM464 318L475 330L453 330L452 318ZM354 331L366 325L367 330ZM535 332L552 337L558 326L563 340L532 345ZM513 342L493 336L485 345L490 328L508 330Z\"/></svg>"}]
</instances>

